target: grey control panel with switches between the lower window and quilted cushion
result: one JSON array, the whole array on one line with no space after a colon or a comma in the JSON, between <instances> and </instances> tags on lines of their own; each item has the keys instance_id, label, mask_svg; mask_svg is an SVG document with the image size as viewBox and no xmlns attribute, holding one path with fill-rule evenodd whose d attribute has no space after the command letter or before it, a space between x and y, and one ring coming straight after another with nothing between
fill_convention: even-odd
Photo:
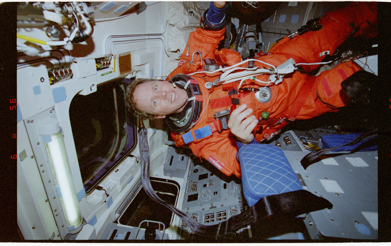
<instances>
[{"instance_id":1,"label":"grey control panel with switches between the lower window and quilted cushion","mask_svg":"<svg viewBox=\"0 0 391 246\"><path fill-rule=\"evenodd\" d=\"M192 158L182 211L201 224L218 224L248 208L239 178L223 177L210 163ZM181 223L178 239L191 229Z\"/></svg>"}]
</instances>

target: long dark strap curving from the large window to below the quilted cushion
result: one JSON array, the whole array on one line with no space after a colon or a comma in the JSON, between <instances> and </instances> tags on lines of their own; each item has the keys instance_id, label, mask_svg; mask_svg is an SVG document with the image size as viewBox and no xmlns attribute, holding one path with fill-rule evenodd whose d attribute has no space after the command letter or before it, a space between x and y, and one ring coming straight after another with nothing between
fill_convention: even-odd
<instances>
[{"instance_id":1,"label":"long dark strap curving from the large window to below the quilted cushion","mask_svg":"<svg viewBox=\"0 0 391 246\"><path fill-rule=\"evenodd\" d=\"M325 198L318 197L307 190L296 190L283 194L266 196L260 199L248 210L232 216L227 221L223 221L219 224L211 226L200 224L175 206L163 201L156 195L152 189L151 181L149 179L149 147L147 129L140 127L138 135L140 139L141 181L145 192L152 200L166 206L169 210L177 214L193 232L199 235L211 237L213 239L222 239L227 234L233 234L241 228L247 227L257 221L265 220L273 215L298 216L308 212L322 210L324 208L330 209L333 206Z\"/></svg>"}]
</instances>

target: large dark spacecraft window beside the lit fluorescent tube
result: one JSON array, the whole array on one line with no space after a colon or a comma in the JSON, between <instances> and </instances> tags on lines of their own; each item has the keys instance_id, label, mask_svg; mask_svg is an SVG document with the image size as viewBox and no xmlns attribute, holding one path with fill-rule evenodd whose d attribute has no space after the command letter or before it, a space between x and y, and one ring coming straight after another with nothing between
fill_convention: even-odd
<instances>
[{"instance_id":1,"label":"large dark spacecraft window beside the lit fluorescent tube","mask_svg":"<svg viewBox=\"0 0 391 246\"><path fill-rule=\"evenodd\" d=\"M135 149L135 118L126 110L124 79L75 95L69 117L86 193Z\"/></svg>"}]
</instances>

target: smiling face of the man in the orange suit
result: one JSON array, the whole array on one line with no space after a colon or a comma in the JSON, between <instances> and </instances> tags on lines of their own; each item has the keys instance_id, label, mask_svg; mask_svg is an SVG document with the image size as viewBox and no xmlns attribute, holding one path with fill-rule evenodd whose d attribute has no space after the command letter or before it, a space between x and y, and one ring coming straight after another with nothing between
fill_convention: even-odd
<instances>
[{"instance_id":1,"label":"smiling face of the man in the orange suit","mask_svg":"<svg viewBox=\"0 0 391 246\"><path fill-rule=\"evenodd\" d=\"M188 96L185 90L178 86L174 88L172 83L154 80L136 86L133 99L139 110L159 115L155 118L164 118L182 111Z\"/></svg>"}]
</instances>

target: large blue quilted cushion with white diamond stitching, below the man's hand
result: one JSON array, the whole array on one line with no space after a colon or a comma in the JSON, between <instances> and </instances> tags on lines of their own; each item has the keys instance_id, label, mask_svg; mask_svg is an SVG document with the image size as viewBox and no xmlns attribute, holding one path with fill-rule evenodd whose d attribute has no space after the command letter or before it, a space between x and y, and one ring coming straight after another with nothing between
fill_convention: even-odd
<instances>
[{"instance_id":1,"label":"large blue quilted cushion with white diamond stitching, below the man's hand","mask_svg":"<svg viewBox=\"0 0 391 246\"><path fill-rule=\"evenodd\" d=\"M249 144L239 149L244 198L253 206L264 196L301 190L296 174L282 150L269 144Z\"/></svg>"}]
</instances>

